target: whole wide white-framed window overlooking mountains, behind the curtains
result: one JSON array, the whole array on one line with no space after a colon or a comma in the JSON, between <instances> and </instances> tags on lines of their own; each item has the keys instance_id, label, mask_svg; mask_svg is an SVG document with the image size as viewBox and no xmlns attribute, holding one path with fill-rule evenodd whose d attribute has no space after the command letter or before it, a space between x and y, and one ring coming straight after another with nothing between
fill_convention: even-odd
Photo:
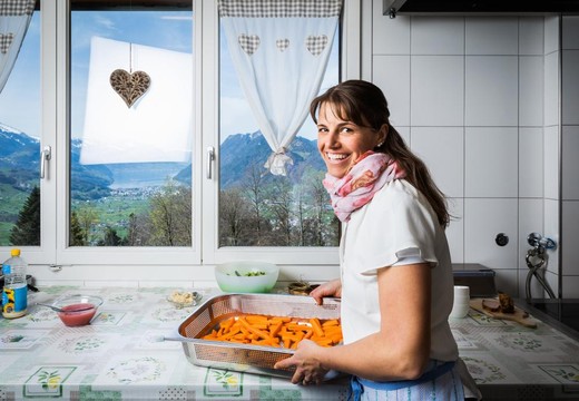
<instances>
[{"instance_id":1,"label":"whole wide white-framed window overlooking mountains, behind the curtains","mask_svg":"<svg viewBox=\"0 0 579 401\"><path fill-rule=\"evenodd\" d=\"M318 91L347 68L342 46L351 43L347 53L357 57L355 35L344 40L356 29L335 30ZM216 0L38 1L0 94L0 124L26 134L30 146L28 164L12 169L10 147L0 146L0 251L11 246L18 212L39 187L40 245L27 250L27 260L62 267L55 280L107 281L119 266L134 274L127 280L147 280L159 266L190 280L192 267L234 258L337 262L315 128L306 117L287 144L294 164L286 176L264 174L272 149L259 150L262 127ZM239 155L243 140L257 147ZM40 179L46 147L51 158ZM210 270L194 272L213 280Z\"/></svg>"}]
</instances>

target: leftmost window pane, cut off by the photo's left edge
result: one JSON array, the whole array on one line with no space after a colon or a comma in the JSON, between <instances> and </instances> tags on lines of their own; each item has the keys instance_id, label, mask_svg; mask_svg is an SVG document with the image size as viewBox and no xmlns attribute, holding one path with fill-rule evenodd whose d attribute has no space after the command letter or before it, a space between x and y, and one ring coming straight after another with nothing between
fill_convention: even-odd
<instances>
[{"instance_id":1,"label":"leftmost window pane, cut off by the photo's left edge","mask_svg":"<svg viewBox=\"0 0 579 401\"><path fill-rule=\"evenodd\" d=\"M4 35L12 32L2 29L0 36ZM8 47L2 48L3 57L7 51ZM40 11L37 7L0 92L0 246L40 245Z\"/></svg>"}]
</instances>

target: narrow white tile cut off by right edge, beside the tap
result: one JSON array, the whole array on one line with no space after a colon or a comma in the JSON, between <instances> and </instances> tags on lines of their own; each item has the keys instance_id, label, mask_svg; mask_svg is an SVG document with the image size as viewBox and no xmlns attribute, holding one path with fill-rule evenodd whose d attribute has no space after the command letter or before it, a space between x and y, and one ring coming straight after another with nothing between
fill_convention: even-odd
<instances>
[{"instance_id":1,"label":"narrow white tile cut off by right edge, beside the tap","mask_svg":"<svg viewBox=\"0 0 579 401\"><path fill-rule=\"evenodd\" d=\"M562 202L561 271L563 275L579 275L579 202ZM563 287L566 284L563 284Z\"/></svg>"}]
</instances>

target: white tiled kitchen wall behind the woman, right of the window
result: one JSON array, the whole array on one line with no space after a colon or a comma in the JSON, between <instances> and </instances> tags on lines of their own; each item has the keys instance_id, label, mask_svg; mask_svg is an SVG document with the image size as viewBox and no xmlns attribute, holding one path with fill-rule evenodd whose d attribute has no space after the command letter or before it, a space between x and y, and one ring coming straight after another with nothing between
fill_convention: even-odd
<instances>
[{"instance_id":1,"label":"white tiled kitchen wall behind the woman, right of the window","mask_svg":"<svg viewBox=\"0 0 579 401\"><path fill-rule=\"evenodd\" d=\"M559 294L561 250L561 265L569 265L561 290L572 296L579 291L577 17L562 26L571 38L563 40L562 95L558 17L391 19L374 0L367 19L371 66L363 66L363 78L384 90L392 124L451 198L453 262L493 268L500 290L524 296L527 236L538 232L559 245L562 193L568 243L548 252L547 278ZM506 246L495 243L500 233L509 237ZM543 296L534 280L532 295Z\"/></svg>"}]
</instances>

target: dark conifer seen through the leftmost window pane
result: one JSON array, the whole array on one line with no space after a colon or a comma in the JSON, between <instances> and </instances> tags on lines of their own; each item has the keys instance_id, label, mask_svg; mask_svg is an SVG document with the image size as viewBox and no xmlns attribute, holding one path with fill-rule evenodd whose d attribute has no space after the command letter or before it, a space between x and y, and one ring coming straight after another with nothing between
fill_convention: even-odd
<instances>
[{"instance_id":1,"label":"dark conifer seen through the leftmost window pane","mask_svg":"<svg viewBox=\"0 0 579 401\"><path fill-rule=\"evenodd\" d=\"M35 186L10 231L12 245L40 245L40 188Z\"/></svg>"}]
</instances>

